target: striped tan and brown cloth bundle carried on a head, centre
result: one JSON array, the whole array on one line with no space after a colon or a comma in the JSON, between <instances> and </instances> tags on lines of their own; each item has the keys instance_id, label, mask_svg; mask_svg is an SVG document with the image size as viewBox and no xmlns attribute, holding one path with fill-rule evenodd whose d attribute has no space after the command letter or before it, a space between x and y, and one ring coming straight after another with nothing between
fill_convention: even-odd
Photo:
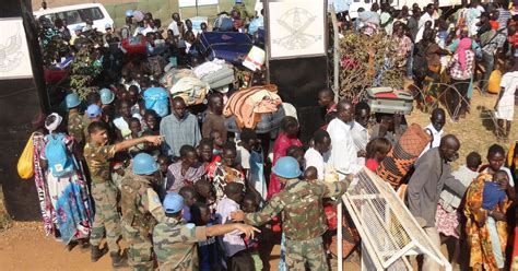
<instances>
[{"instance_id":1,"label":"striped tan and brown cloth bundle carried on a head, centre","mask_svg":"<svg viewBox=\"0 0 518 271\"><path fill-rule=\"evenodd\" d=\"M235 126L239 130L243 128L259 128L259 122L266 126L261 127L261 130L264 131L278 128L280 121L263 119L264 115L273 116L274 113L281 111L279 108L282 105L282 101L276 92L276 85L269 84L239 90L232 94L223 108L223 115L228 118L228 130L235 129L232 129L232 123L228 123L233 121L235 121ZM283 111L282 115L284 115ZM280 117L280 119L282 119L282 117ZM274 119L278 118L275 117Z\"/></svg>"}]
</instances>

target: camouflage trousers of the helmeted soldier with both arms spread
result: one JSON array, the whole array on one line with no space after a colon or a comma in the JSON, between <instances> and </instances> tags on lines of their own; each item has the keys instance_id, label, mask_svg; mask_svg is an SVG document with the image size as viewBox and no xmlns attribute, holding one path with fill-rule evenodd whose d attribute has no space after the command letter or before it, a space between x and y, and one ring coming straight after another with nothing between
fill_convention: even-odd
<instances>
[{"instance_id":1,"label":"camouflage trousers of the helmeted soldier with both arms spread","mask_svg":"<svg viewBox=\"0 0 518 271\"><path fill-rule=\"evenodd\" d=\"M286 238L286 270L305 270L305 263L311 271L328 271L322 237L308 240L290 240Z\"/></svg>"}]
</instances>

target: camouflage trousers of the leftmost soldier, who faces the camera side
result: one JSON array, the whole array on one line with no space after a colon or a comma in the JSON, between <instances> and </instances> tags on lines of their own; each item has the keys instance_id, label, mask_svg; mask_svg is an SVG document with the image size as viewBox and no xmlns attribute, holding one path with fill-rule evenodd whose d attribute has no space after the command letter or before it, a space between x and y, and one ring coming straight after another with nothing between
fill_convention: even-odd
<instances>
[{"instance_id":1,"label":"camouflage trousers of the leftmost soldier, who faces the camera side","mask_svg":"<svg viewBox=\"0 0 518 271\"><path fill-rule=\"evenodd\" d=\"M120 237L120 217L117 212L117 190L111 181L92 184L92 198L95 202L95 216L90 244L101 245L106 231L106 243L110 252L118 252L117 240Z\"/></svg>"}]
</instances>

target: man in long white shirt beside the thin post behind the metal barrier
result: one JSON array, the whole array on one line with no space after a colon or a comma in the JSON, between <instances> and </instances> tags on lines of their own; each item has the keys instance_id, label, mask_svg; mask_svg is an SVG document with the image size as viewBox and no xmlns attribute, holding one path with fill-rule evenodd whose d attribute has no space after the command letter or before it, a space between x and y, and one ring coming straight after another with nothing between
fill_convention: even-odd
<instances>
[{"instance_id":1,"label":"man in long white shirt beside the thin post behind the metal barrier","mask_svg":"<svg viewBox=\"0 0 518 271\"><path fill-rule=\"evenodd\" d=\"M331 156L329 164L334 167L339 178L355 174L362 169L357 164L357 152L352 137L354 106L349 101L341 101L337 105L338 116L329 122L327 131L331 137Z\"/></svg>"}]
</instances>

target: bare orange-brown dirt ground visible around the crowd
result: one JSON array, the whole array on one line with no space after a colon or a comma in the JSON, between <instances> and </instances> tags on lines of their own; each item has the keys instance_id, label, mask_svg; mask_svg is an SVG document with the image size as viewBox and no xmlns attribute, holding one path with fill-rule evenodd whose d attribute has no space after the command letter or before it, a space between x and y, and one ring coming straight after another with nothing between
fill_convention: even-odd
<instances>
[{"instance_id":1,"label":"bare orange-brown dirt ground visible around the crowd","mask_svg":"<svg viewBox=\"0 0 518 271\"><path fill-rule=\"evenodd\" d=\"M471 111L466 119L458 123L446 122L445 131L457 134L461 141L460 157L456 166L463 163L466 155L478 151L485 157L487 148L493 143L501 143L507 150L509 142L518 140L517 117L510 132L509 142L497 142L493 136L493 121L485 115L486 108L493 108L496 95L483 97L475 92ZM414 110L407 119L426 126L428 115ZM0 216L2 208L0 205ZM2 222L0 220L0 263L1 270L111 270L109 257L103 257L97 263L90 261L90 252L79 248L67 251L63 245L54 238L45 237L42 224L38 222ZM9 225L8 229L5 226ZM274 248L271 264L276 267L279 247ZM335 261L332 263L335 267ZM346 262L348 270L360 270L358 264ZM127 269L121 269L127 270ZM276 269L272 269L276 270ZM333 268L335 270L335 268Z\"/></svg>"}]
</instances>

